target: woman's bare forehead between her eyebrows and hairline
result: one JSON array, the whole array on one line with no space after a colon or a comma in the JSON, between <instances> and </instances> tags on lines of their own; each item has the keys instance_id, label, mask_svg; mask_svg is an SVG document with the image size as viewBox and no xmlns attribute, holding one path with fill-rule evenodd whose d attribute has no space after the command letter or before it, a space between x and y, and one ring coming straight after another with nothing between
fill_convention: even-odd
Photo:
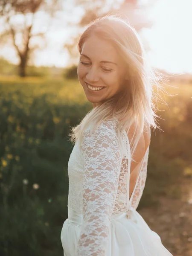
<instances>
[{"instance_id":1,"label":"woman's bare forehead between her eyebrows and hairline","mask_svg":"<svg viewBox=\"0 0 192 256\"><path fill-rule=\"evenodd\" d=\"M119 60L119 54L113 44L96 35L90 35L84 41L81 53L87 55L91 60L116 62Z\"/></svg>"}]
</instances>

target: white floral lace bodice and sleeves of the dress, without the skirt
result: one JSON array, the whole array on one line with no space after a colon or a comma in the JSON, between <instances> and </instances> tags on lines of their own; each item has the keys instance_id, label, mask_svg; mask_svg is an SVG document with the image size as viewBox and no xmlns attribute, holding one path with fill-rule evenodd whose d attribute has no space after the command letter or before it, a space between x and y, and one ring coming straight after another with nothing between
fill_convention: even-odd
<instances>
[{"instance_id":1,"label":"white floral lace bodice and sleeves of the dress, without the skirt","mask_svg":"<svg viewBox=\"0 0 192 256\"><path fill-rule=\"evenodd\" d=\"M105 256L110 221L137 209L145 187L148 150L129 200L130 145L123 133L119 146L116 122L105 121L90 134L84 133L81 150L78 141L68 162L68 207L83 216L76 256Z\"/></svg>"}]
</instances>

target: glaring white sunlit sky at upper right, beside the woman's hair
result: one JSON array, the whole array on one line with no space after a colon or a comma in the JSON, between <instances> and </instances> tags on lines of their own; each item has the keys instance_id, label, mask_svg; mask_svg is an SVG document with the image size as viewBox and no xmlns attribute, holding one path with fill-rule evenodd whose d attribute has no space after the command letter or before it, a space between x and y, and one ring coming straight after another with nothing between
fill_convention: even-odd
<instances>
[{"instance_id":1,"label":"glaring white sunlit sky at upper right, beside the woman's hair","mask_svg":"<svg viewBox=\"0 0 192 256\"><path fill-rule=\"evenodd\" d=\"M151 64L168 72L192 73L192 0L159 0L149 15L151 29L143 31Z\"/></svg>"}]
</instances>

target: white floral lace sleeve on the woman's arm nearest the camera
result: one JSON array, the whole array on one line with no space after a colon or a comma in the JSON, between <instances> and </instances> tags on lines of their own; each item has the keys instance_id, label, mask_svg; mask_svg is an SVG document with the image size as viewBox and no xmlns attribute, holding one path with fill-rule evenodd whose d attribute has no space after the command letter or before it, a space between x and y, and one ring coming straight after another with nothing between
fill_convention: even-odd
<instances>
[{"instance_id":1,"label":"white floral lace sleeve on the woman's arm nearest the camera","mask_svg":"<svg viewBox=\"0 0 192 256\"><path fill-rule=\"evenodd\" d=\"M92 136L87 130L82 151L84 216L76 256L105 256L122 161L113 125L103 122Z\"/></svg>"}]
</instances>

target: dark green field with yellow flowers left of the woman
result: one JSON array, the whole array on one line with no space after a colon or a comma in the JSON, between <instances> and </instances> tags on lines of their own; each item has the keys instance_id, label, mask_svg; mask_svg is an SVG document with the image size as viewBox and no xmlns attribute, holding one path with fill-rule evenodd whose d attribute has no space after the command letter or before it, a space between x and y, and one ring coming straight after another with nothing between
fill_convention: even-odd
<instances>
[{"instance_id":1,"label":"dark green field with yellow flowers left of the woman","mask_svg":"<svg viewBox=\"0 0 192 256\"><path fill-rule=\"evenodd\" d=\"M60 233L67 218L67 164L73 149L68 134L87 111L86 105L70 105L73 93L65 96L64 88L53 81L1 83L2 256L63 254Z\"/></svg>"}]
</instances>

